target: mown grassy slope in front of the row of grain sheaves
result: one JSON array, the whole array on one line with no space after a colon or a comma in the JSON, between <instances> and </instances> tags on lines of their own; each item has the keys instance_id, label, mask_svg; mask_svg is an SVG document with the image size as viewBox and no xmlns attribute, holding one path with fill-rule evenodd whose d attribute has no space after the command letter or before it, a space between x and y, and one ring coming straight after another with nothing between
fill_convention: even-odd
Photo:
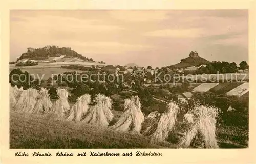
<instances>
[{"instance_id":1,"label":"mown grassy slope in front of the row of grain sheaves","mask_svg":"<svg viewBox=\"0 0 256 164\"><path fill-rule=\"evenodd\" d=\"M11 149L174 148L143 136L81 123L10 112Z\"/></svg>"}]
</instances>

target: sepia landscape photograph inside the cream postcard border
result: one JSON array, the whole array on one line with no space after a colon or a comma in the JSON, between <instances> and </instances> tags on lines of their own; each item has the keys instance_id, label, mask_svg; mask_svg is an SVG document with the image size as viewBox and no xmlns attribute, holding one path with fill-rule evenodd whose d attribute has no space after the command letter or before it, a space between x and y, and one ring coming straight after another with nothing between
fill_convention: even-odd
<instances>
[{"instance_id":1,"label":"sepia landscape photograph inside the cream postcard border","mask_svg":"<svg viewBox=\"0 0 256 164\"><path fill-rule=\"evenodd\" d=\"M10 149L248 148L248 10L10 10L9 24Z\"/></svg>"}]
</instances>

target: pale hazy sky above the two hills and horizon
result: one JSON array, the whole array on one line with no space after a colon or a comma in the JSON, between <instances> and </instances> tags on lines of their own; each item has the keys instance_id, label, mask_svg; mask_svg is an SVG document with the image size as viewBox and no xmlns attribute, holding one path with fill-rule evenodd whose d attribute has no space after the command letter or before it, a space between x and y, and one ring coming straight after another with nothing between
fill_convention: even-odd
<instances>
[{"instance_id":1,"label":"pale hazy sky above the two hills and horizon","mask_svg":"<svg viewBox=\"0 0 256 164\"><path fill-rule=\"evenodd\" d=\"M195 50L239 64L248 62L248 10L10 11L10 61L47 45L113 65L168 66Z\"/></svg>"}]
</instances>

